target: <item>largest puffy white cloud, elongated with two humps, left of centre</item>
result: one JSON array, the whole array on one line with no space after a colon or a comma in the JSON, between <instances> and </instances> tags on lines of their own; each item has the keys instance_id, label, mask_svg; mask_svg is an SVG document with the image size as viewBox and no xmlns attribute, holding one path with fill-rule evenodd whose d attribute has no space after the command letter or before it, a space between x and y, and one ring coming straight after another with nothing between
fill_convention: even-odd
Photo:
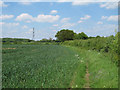
<instances>
[{"instance_id":1,"label":"largest puffy white cloud, elongated with two humps, left of centre","mask_svg":"<svg viewBox=\"0 0 120 90\"><path fill-rule=\"evenodd\" d=\"M16 20L17 21L25 21L27 23L29 22L55 22L59 19L59 15L56 16L52 16L52 15L38 15L37 17L32 17L31 15L27 14L27 13L23 13L19 16L17 16Z\"/></svg>"}]
</instances>

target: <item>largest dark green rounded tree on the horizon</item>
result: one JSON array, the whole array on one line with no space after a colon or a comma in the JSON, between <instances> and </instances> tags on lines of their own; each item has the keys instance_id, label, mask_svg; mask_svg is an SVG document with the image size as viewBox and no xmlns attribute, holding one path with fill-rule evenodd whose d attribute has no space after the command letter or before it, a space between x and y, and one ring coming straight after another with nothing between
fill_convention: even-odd
<instances>
[{"instance_id":1,"label":"largest dark green rounded tree on the horizon","mask_svg":"<svg viewBox=\"0 0 120 90\"><path fill-rule=\"evenodd\" d=\"M57 37L57 40L60 41L73 40L74 32L72 30L62 29L61 31L57 32L55 37Z\"/></svg>"}]
</instances>

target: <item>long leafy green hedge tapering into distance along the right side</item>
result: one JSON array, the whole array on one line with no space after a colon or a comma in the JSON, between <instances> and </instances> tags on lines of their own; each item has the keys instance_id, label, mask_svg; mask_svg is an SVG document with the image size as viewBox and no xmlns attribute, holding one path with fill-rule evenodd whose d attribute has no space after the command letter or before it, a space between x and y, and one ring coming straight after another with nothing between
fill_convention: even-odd
<instances>
[{"instance_id":1,"label":"long leafy green hedge tapering into distance along the right side","mask_svg":"<svg viewBox=\"0 0 120 90\"><path fill-rule=\"evenodd\" d=\"M118 34L116 36L91 38L87 40L71 40L63 42L64 45L82 47L110 54L111 60L118 65Z\"/></svg>"}]
</instances>

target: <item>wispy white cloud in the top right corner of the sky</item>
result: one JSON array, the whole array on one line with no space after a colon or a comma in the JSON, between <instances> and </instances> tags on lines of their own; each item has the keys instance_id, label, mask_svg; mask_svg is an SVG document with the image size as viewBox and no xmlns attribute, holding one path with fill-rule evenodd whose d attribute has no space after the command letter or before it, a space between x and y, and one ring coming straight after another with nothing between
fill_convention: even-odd
<instances>
[{"instance_id":1,"label":"wispy white cloud in the top right corner of the sky","mask_svg":"<svg viewBox=\"0 0 120 90\"><path fill-rule=\"evenodd\" d=\"M100 4L101 8L106 8L106 9L115 9L118 7L118 2L107 2L107 3L102 3Z\"/></svg>"}]
</instances>

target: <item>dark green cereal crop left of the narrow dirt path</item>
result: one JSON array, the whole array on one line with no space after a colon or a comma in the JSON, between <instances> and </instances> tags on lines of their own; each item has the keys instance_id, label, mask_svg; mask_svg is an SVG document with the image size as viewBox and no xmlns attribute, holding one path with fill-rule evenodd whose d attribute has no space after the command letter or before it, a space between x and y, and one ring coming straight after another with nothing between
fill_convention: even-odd
<instances>
[{"instance_id":1,"label":"dark green cereal crop left of the narrow dirt path","mask_svg":"<svg viewBox=\"0 0 120 90\"><path fill-rule=\"evenodd\" d=\"M84 85L85 63L80 62L79 53L71 48L3 45L2 56L3 88L82 88Z\"/></svg>"}]
</instances>

